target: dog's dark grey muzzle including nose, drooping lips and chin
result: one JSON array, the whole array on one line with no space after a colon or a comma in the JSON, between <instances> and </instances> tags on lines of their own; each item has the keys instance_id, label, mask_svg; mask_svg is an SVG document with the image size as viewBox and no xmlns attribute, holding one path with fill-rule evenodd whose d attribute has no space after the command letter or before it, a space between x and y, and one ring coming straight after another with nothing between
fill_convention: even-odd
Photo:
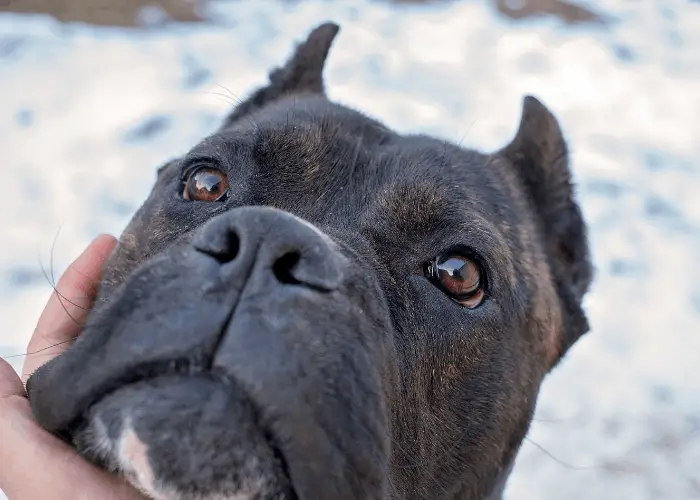
<instances>
[{"instance_id":1,"label":"dog's dark grey muzzle including nose, drooping lips and chin","mask_svg":"<svg viewBox=\"0 0 700 500\"><path fill-rule=\"evenodd\" d=\"M381 498L391 325L368 267L288 213L216 216L30 378L34 414L155 498Z\"/></svg>"}]
</instances>

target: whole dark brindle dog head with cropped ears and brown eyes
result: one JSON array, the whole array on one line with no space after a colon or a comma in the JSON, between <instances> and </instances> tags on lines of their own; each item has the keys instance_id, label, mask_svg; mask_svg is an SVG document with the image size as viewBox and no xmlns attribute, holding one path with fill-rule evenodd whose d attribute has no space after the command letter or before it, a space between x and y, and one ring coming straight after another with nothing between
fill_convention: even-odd
<instances>
[{"instance_id":1,"label":"whole dark brindle dog head with cropped ears and brown eyes","mask_svg":"<svg viewBox=\"0 0 700 500\"><path fill-rule=\"evenodd\" d=\"M155 498L498 498L591 269L555 118L482 154L330 102L314 30L158 173L38 421Z\"/></svg>"}]
</instances>

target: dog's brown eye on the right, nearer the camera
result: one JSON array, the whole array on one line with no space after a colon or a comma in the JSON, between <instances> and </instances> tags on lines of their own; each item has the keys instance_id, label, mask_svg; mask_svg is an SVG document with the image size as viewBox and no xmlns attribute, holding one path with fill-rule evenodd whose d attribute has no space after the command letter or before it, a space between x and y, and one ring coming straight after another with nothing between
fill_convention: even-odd
<instances>
[{"instance_id":1,"label":"dog's brown eye on the right, nearer the camera","mask_svg":"<svg viewBox=\"0 0 700 500\"><path fill-rule=\"evenodd\" d=\"M480 266L469 257L445 254L428 262L426 276L464 307L478 307L486 296Z\"/></svg>"}]
</instances>

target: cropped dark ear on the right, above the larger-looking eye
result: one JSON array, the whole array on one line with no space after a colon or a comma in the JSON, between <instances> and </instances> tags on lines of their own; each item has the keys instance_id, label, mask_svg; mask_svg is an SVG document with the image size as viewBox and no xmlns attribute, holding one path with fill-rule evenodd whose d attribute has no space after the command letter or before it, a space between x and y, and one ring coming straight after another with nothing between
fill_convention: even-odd
<instances>
[{"instance_id":1,"label":"cropped dark ear on the right, above the larger-looking eye","mask_svg":"<svg viewBox=\"0 0 700 500\"><path fill-rule=\"evenodd\" d=\"M589 329L581 300L593 277L587 229L574 199L568 148L557 119L525 97L515 138L501 154L514 166L539 216L552 276L562 304L564 331L558 357Z\"/></svg>"}]
</instances>

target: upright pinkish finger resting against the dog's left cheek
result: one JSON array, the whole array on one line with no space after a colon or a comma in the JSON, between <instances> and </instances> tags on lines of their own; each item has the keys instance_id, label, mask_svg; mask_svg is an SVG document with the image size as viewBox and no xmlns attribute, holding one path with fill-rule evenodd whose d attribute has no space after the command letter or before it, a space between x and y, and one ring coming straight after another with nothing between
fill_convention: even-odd
<instances>
[{"instance_id":1,"label":"upright pinkish finger resting against the dog's left cheek","mask_svg":"<svg viewBox=\"0 0 700 500\"><path fill-rule=\"evenodd\" d=\"M27 347L22 378L27 378L70 346L95 300L102 267L116 245L110 235L100 235L63 273L39 318Z\"/></svg>"}]
</instances>

